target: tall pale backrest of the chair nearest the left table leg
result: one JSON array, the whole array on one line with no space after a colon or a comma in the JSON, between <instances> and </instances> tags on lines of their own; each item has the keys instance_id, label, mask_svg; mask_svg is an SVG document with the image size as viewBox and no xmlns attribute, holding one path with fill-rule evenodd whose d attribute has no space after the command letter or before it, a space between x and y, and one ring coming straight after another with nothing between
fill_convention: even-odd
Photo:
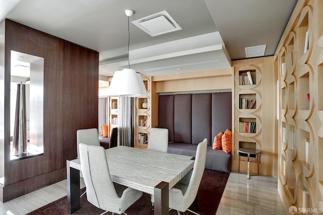
<instances>
[{"instance_id":1,"label":"tall pale backrest of the chair nearest the left table leg","mask_svg":"<svg viewBox=\"0 0 323 215\"><path fill-rule=\"evenodd\" d=\"M104 210L113 207L119 197L111 180L105 150L101 146L79 144L82 174L87 200Z\"/></svg>"}]
</instances>

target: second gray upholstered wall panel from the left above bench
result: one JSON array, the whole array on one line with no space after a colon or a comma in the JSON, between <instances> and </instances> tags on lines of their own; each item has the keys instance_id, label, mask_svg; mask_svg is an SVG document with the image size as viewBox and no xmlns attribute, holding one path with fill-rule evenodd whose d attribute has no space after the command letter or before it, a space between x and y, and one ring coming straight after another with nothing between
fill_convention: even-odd
<instances>
[{"instance_id":1,"label":"second gray upholstered wall panel from the left above bench","mask_svg":"<svg viewBox=\"0 0 323 215\"><path fill-rule=\"evenodd\" d=\"M174 97L174 142L192 143L192 94Z\"/></svg>"}]
</instances>

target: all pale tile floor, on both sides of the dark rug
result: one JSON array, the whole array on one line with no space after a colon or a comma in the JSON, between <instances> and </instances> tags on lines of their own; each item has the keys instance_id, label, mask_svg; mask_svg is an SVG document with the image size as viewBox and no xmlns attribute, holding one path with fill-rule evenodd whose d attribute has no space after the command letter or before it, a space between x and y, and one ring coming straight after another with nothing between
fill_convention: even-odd
<instances>
[{"instance_id":1,"label":"all pale tile floor, on both sides of the dark rug","mask_svg":"<svg viewBox=\"0 0 323 215\"><path fill-rule=\"evenodd\" d=\"M66 186L64 180L8 202L0 202L0 214L31 212L65 196ZM83 180L81 187L84 187ZM231 172L217 211L217 215L221 214L285 214L277 190L277 178L251 176L248 180L245 174Z\"/></svg>"}]
</instances>

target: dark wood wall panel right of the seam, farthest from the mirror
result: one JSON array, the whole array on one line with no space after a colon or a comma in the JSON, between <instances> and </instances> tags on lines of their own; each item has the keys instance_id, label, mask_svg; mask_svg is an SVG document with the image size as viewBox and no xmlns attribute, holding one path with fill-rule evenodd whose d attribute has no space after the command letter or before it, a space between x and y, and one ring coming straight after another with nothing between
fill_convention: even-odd
<instances>
[{"instance_id":1,"label":"dark wood wall panel right of the seam, farthest from the mirror","mask_svg":"<svg viewBox=\"0 0 323 215\"><path fill-rule=\"evenodd\" d=\"M67 159L77 156L76 131L97 128L98 53L79 45L64 45L64 132ZM87 95L87 96L85 96ZM96 121L93 121L96 119Z\"/></svg>"}]
</instances>

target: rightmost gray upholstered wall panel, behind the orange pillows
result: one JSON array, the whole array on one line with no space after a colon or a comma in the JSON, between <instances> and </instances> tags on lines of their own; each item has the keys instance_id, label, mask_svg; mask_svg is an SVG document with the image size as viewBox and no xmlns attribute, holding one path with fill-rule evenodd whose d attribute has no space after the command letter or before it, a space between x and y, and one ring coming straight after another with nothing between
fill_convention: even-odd
<instances>
[{"instance_id":1,"label":"rightmost gray upholstered wall panel, behind the orange pillows","mask_svg":"<svg viewBox=\"0 0 323 215\"><path fill-rule=\"evenodd\" d=\"M212 93L212 137L226 129L232 131L231 92Z\"/></svg>"}]
</instances>

